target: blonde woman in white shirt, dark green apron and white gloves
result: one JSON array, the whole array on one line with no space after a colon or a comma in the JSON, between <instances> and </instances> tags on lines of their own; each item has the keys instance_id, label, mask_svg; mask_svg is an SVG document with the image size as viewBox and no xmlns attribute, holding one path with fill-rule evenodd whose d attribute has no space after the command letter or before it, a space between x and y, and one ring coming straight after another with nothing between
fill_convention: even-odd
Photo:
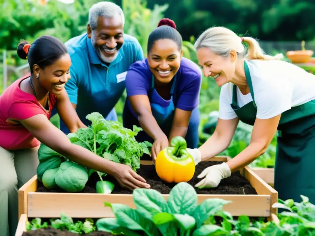
<instances>
[{"instance_id":1,"label":"blonde woman in white shirt, dark green apron and white gloves","mask_svg":"<svg viewBox=\"0 0 315 236\"><path fill-rule=\"evenodd\" d=\"M245 55L242 42L249 45ZM196 187L214 188L231 172L262 155L278 130L274 188L279 199L315 202L315 76L265 55L251 37L238 37L224 27L204 31L195 43L206 77L221 87L219 119L214 134L198 149L196 160L208 160L225 150L238 121L253 125L251 142L232 160L206 168Z\"/></svg>"}]
</instances>

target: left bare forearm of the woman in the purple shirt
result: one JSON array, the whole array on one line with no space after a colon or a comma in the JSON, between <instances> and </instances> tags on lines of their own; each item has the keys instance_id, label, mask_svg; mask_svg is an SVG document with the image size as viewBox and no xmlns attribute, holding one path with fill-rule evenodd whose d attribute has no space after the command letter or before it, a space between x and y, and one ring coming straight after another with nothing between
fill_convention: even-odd
<instances>
[{"instance_id":1,"label":"left bare forearm of the woman in the purple shirt","mask_svg":"<svg viewBox=\"0 0 315 236\"><path fill-rule=\"evenodd\" d=\"M157 124L157 121L151 114L139 115L138 121L141 128L154 140L157 137L165 135L161 130L160 126Z\"/></svg>"}]
</instances>

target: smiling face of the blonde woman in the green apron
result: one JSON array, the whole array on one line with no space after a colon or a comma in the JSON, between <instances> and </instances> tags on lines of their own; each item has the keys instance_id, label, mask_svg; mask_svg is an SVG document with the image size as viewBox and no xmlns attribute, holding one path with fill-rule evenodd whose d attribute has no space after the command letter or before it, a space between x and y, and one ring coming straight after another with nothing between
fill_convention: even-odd
<instances>
[{"instance_id":1,"label":"smiling face of the blonde woman in the green apron","mask_svg":"<svg viewBox=\"0 0 315 236\"><path fill-rule=\"evenodd\" d=\"M199 65L203 68L204 76L213 77L219 87L232 81L235 75L235 51L227 57L222 57L209 48L199 48L197 58Z\"/></svg>"}]
</instances>

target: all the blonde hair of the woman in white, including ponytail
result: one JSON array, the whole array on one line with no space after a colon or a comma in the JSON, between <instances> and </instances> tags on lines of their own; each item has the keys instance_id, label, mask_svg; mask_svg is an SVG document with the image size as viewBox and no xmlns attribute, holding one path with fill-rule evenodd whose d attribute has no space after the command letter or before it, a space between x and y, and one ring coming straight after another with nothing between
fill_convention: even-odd
<instances>
[{"instance_id":1,"label":"all the blonde hair of the woman in white, including ponytail","mask_svg":"<svg viewBox=\"0 0 315 236\"><path fill-rule=\"evenodd\" d=\"M249 50L246 54L242 38L249 45ZM283 58L282 54L275 56L266 55L259 43L252 37L242 38L225 27L215 26L203 31L196 40L194 47L196 51L199 48L209 48L222 57L228 56L231 50L235 50L240 58L260 60L280 60Z\"/></svg>"}]
</instances>

